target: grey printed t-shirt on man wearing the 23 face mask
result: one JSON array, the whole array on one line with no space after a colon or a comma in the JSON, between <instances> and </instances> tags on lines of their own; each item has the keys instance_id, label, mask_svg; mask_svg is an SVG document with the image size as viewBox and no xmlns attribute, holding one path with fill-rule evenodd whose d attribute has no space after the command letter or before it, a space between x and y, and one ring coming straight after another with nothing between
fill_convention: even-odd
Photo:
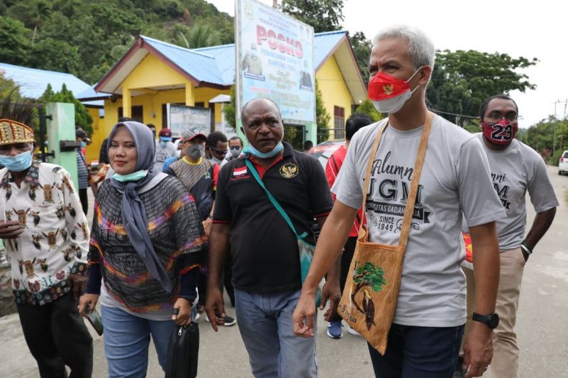
<instances>
[{"instance_id":1,"label":"grey printed t-shirt on man wearing the 23 face mask","mask_svg":"<svg viewBox=\"0 0 568 378\"><path fill-rule=\"evenodd\" d=\"M482 133L476 136L484 146L493 187L507 213L506 218L496 222L499 249L502 252L514 250L525 239L527 191L535 211L541 213L558 206L555 190L545 161L528 145L514 139L506 149L494 151L487 148Z\"/></svg>"}]
</instances>

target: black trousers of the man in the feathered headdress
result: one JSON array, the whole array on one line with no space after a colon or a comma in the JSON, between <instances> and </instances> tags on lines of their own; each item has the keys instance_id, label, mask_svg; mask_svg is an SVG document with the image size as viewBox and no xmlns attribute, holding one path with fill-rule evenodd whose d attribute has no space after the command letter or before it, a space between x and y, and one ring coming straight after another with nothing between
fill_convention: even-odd
<instances>
[{"instance_id":1,"label":"black trousers of the man in the feathered headdress","mask_svg":"<svg viewBox=\"0 0 568 378\"><path fill-rule=\"evenodd\" d=\"M38 362L41 378L90 378L93 370L93 339L77 311L73 294L34 306L18 304L23 335Z\"/></svg>"}]
</instances>

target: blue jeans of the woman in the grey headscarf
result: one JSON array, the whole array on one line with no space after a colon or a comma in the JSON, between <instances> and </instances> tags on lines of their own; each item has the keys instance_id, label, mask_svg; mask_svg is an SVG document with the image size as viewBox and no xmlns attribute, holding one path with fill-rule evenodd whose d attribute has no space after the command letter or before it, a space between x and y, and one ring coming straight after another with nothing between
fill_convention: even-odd
<instances>
[{"instance_id":1,"label":"blue jeans of the woman in the grey headscarf","mask_svg":"<svg viewBox=\"0 0 568 378\"><path fill-rule=\"evenodd\" d=\"M107 306L101 306L101 317L110 378L146 377L150 335L158 352L158 362L165 369L170 336L177 327L174 321L149 321Z\"/></svg>"}]
</instances>

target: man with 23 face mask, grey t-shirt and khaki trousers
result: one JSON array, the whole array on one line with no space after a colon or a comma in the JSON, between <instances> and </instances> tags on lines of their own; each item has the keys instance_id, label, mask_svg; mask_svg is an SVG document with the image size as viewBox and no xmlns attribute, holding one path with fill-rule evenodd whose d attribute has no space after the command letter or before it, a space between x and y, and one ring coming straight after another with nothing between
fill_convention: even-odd
<instances>
[{"instance_id":1,"label":"man with 23 face mask, grey t-shirt and khaki trousers","mask_svg":"<svg viewBox=\"0 0 568 378\"><path fill-rule=\"evenodd\" d=\"M506 218L496 221L501 250L496 312L501 321L493 333L493 378L518 377L519 348L514 328L523 269L535 245L555 218L558 206L544 160L535 150L515 139L517 117L518 106L513 99L504 94L491 96L479 111L482 133L476 134L487 154L493 187L507 213ZM525 237L527 192L537 215ZM470 269L464 269L464 272L469 309L475 294L474 272ZM466 335L469 327L468 320Z\"/></svg>"}]
</instances>

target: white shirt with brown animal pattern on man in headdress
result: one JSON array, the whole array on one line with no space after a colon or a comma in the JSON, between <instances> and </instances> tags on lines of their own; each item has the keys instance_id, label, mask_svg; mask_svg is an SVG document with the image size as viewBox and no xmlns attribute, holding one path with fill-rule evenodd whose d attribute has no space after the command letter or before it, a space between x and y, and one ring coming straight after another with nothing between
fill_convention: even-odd
<instances>
[{"instance_id":1,"label":"white shirt with brown animal pattern on man in headdress","mask_svg":"<svg viewBox=\"0 0 568 378\"><path fill-rule=\"evenodd\" d=\"M58 165L33 162L19 188L8 169L0 178L0 214L24 228L4 240L16 303L48 304L70 291L69 274L87 274L87 218L69 173Z\"/></svg>"}]
</instances>

